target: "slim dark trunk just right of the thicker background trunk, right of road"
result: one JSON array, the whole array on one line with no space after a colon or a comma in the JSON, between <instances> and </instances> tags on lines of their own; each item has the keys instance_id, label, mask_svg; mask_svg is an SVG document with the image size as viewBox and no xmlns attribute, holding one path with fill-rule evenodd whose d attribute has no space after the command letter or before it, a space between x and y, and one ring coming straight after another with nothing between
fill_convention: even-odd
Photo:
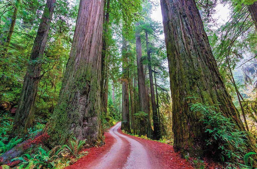
<instances>
[{"instance_id":1,"label":"slim dark trunk just right of the thicker background trunk, right of road","mask_svg":"<svg viewBox=\"0 0 257 169\"><path fill-rule=\"evenodd\" d=\"M154 94L154 87L153 87L153 73L152 73L151 56L150 56L147 32L145 32L145 38L146 38L146 51L147 51L147 59L148 59L148 71L149 71L151 101L152 101L152 110L153 110L153 138L155 140L159 140L161 136L160 136L157 106L155 102L155 94Z\"/></svg>"}]
</instances>

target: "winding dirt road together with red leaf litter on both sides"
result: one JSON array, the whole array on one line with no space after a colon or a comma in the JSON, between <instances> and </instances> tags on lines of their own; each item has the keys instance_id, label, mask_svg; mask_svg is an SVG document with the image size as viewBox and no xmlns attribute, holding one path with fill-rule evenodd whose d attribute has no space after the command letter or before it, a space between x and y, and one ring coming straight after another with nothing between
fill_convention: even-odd
<instances>
[{"instance_id":1,"label":"winding dirt road together with red leaf litter on both sides","mask_svg":"<svg viewBox=\"0 0 257 169\"><path fill-rule=\"evenodd\" d=\"M194 168L168 144L124 134L121 122L105 133L105 145L91 147L89 154L67 169L75 168Z\"/></svg>"}]
</instances>

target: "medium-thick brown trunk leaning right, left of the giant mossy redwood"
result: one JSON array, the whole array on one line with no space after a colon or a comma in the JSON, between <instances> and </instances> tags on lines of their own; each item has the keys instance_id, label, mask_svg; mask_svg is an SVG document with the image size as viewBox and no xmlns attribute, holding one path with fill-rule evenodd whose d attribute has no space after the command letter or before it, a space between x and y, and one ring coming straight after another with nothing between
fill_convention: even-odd
<instances>
[{"instance_id":1,"label":"medium-thick brown trunk leaning right, left of the giant mossy redwood","mask_svg":"<svg viewBox=\"0 0 257 169\"><path fill-rule=\"evenodd\" d=\"M47 43L55 2L56 0L47 0L45 4L42 19L30 55L30 63L24 77L11 137L22 137L27 133L27 129L33 125L35 100L38 92L38 84L41 79L42 58Z\"/></svg>"}]
</instances>

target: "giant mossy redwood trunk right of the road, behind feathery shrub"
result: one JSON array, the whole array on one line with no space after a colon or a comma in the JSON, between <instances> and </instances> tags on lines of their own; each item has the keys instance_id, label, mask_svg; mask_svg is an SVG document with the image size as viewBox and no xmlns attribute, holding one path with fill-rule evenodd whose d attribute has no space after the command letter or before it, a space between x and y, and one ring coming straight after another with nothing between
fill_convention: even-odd
<instances>
[{"instance_id":1,"label":"giant mossy redwood trunk right of the road, behind feathery shrub","mask_svg":"<svg viewBox=\"0 0 257 169\"><path fill-rule=\"evenodd\" d=\"M183 156L220 155L218 145L206 145L208 134L200 121L202 114L192 112L189 96L199 102L219 104L218 112L231 118L235 127L245 131L240 115L228 94L193 0L161 0L172 93L172 130L174 149ZM251 151L256 147L249 141Z\"/></svg>"}]
</instances>

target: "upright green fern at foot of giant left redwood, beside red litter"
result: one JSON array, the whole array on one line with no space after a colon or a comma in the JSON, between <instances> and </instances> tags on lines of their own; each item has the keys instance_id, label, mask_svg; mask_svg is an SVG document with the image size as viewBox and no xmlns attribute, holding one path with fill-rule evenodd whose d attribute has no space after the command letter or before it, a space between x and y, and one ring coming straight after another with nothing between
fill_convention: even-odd
<instances>
[{"instance_id":1,"label":"upright green fern at foot of giant left redwood, beside red litter","mask_svg":"<svg viewBox=\"0 0 257 169\"><path fill-rule=\"evenodd\" d=\"M83 146L86 144L86 140L77 140L75 137L72 139L73 140L70 140L70 146L63 145L62 148L67 148L72 153L72 155L77 157Z\"/></svg>"}]
</instances>

